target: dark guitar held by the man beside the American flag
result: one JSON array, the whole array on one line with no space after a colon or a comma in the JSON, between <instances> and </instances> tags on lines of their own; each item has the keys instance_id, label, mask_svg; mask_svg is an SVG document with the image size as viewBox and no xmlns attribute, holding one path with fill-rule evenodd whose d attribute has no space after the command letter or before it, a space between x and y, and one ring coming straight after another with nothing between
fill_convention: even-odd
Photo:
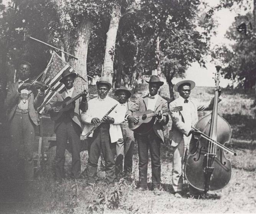
<instances>
[{"instance_id":1,"label":"dark guitar held by the man beside the American flag","mask_svg":"<svg viewBox=\"0 0 256 214\"><path fill-rule=\"evenodd\" d=\"M53 121L58 120L59 118L61 118L62 114L64 112L67 112L69 110L74 110L75 109L75 101L77 99L79 99L84 93L86 92L86 90L84 90L83 92L81 92L80 94L77 94L77 96L71 98L71 97L66 97L63 101L56 101L51 105L51 108L53 107L58 107L60 109L59 112L51 112L50 113L50 117Z\"/></svg>"}]
</instances>

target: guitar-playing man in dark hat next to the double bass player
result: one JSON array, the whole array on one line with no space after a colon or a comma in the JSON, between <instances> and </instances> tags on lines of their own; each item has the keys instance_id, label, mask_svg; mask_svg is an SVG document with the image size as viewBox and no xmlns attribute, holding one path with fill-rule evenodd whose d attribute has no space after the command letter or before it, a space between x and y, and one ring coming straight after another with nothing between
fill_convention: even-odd
<instances>
[{"instance_id":1,"label":"guitar-playing man in dark hat next to the double bass player","mask_svg":"<svg viewBox=\"0 0 256 214\"><path fill-rule=\"evenodd\" d=\"M150 109L154 112L167 109L167 101L158 95L160 86L164 83L159 77L152 75L149 81L149 94L144 97L139 97L133 107L126 112L125 118L136 124L139 122L138 117L133 116L132 112L145 112ZM151 155L152 168L152 183L155 195L160 195L161 182L161 162L160 162L160 146L164 142L163 125L169 121L168 115L162 115L161 112L156 118L153 118L154 123L151 129L146 134L136 134L138 139L138 154L139 154L139 191L147 190L147 175L148 175L148 149Z\"/></svg>"}]
</instances>

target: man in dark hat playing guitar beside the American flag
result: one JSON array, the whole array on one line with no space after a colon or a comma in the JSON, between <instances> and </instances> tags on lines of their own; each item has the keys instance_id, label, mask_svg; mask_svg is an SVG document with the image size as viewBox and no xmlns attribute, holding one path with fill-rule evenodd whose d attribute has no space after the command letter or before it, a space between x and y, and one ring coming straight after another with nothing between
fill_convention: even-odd
<instances>
[{"instance_id":1,"label":"man in dark hat playing guitar beside the American flag","mask_svg":"<svg viewBox=\"0 0 256 214\"><path fill-rule=\"evenodd\" d=\"M74 89L73 84L76 74L65 70L62 73L62 78L59 80L64 83L65 87L59 91L55 96L45 105L44 111L46 113L59 113L58 107L51 107L57 101L64 101L66 97L75 97L79 92ZM80 163L80 133L82 132L82 125L80 119L80 110L84 112L87 107L87 92L82 94L82 98L75 101L75 109L71 109L62 114L62 116L54 122L54 132L56 133L56 157L55 157L55 178L61 182L65 177L65 150L67 141L71 144L72 167L71 178L77 179L80 177L81 163Z\"/></svg>"}]
</instances>

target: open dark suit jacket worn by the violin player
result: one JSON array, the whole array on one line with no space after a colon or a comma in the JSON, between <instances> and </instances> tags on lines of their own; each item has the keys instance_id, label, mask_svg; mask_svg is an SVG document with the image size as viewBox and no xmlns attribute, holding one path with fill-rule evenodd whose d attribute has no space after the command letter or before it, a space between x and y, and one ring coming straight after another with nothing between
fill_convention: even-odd
<instances>
[{"instance_id":1,"label":"open dark suit jacket worn by the violin player","mask_svg":"<svg viewBox=\"0 0 256 214\"><path fill-rule=\"evenodd\" d=\"M5 100L5 107L7 108L7 120L13 118L16 108L19 102L19 94L18 94L18 86L19 83L16 81L12 83L7 91L7 97ZM37 108L43 103L44 95L39 96L37 89L32 89L28 94L28 114L35 125L39 125L39 117Z\"/></svg>"}]
</instances>

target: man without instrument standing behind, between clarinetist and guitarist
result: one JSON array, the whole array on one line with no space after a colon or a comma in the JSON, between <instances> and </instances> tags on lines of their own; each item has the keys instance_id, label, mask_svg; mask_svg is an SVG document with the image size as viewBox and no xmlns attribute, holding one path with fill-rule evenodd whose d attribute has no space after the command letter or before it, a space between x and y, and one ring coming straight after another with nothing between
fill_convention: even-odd
<instances>
[{"instance_id":1,"label":"man without instrument standing behind, between clarinetist and guitarist","mask_svg":"<svg viewBox=\"0 0 256 214\"><path fill-rule=\"evenodd\" d=\"M121 86L115 90L115 95L118 96L119 102L117 108L120 109L120 113L123 115L123 119L125 119L126 111L132 107L131 101L128 101L128 99L131 97L131 92L125 86ZM134 136L133 131L131 131L128 127L127 121L123 121L120 126L123 133L123 138L120 138L117 141L117 154L115 156L116 174L120 177L122 171L124 170L124 177L130 177L133 167Z\"/></svg>"}]
</instances>

